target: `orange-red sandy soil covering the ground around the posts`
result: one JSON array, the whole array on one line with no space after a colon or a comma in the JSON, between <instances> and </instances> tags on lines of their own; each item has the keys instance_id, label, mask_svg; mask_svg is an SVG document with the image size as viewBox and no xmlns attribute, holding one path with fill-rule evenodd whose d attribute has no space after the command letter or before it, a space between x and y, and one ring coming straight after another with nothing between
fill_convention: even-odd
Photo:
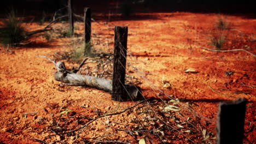
<instances>
[{"instance_id":1,"label":"orange-red sandy soil covering the ground around the posts","mask_svg":"<svg viewBox=\"0 0 256 144\"><path fill-rule=\"evenodd\" d=\"M246 49L256 54L255 41L250 41L252 37L255 38L256 19L245 15L222 16L230 28L242 32L226 30L228 36L223 49ZM138 86L142 88L144 97L153 100L120 115L99 118L77 137L75 134L79 130L50 136L77 129L102 113L120 112L137 103L122 102L118 107L109 93L88 87L60 87L60 82L54 80L54 64L46 58L36 57L54 59L56 52L69 52L72 41L83 39L83 23L76 22L76 36L72 38L53 38L48 42L43 34L37 34L29 39L33 41L32 44L11 48L11 52L7 52L6 47L0 47L0 143L40 143L32 137L48 143L138 143L144 136L151 139L149 141L152 143L193 143L182 134L194 143L214 143L219 102L237 98L248 100L244 141L255 143L255 57L244 51L222 53L200 48L205 46L213 49L210 37L217 32L214 25L218 15L177 12L136 14L133 17L139 19L92 22L92 33L104 37L98 38L104 52L113 52L114 32L104 24L129 27L127 74L141 82ZM46 25L24 23L28 31ZM67 23L57 23L54 27L63 25L67 27ZM94 42L97 47L97 41ZM78 66L65 59L57 61L64 61L68 68ZM92 69L95 67L93 63L86 66ZM198 73L185 73L184 70L189 68ZM234 71L234 74L226 76L226 71ZM163 79L167 83L165 86ZM159 116L161 107L172 103L164 93L159 93L158 88L181 101L177 106L183 110L171 112L172 119ZM192 115L184 110L186 105L194 110ZM72 111L60 118L63 111L61 107ZM28 112L37 113L26 115ZM170 122L177 130L162 128L161 121L154 121L156 116L164 122ZM185 122L186 119L194 123L199 131L189 132L193 128ZM182 127L177 127L174 121ZM210 136L207 140L203 140L203 129Z\"/></svg>"}]
</instances>

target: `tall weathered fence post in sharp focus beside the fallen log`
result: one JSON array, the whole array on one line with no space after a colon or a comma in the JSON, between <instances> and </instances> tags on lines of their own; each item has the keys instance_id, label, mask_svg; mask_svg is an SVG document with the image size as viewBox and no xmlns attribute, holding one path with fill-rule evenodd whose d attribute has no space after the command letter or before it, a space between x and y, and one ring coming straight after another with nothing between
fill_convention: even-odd
<instances>
[{"instance_id":1,"label":"tall weathered fence post in sharp focus beside the fallen log","mask_svg":"<svg viewBox=\"0 0 256 144\"><path fill-rule=\"evenodd\" d=\"M125 67L127 55L128 27L115 26L114 28L114 70L112 83L112 100L125 101Z\"/></svg>"}]
</instances>

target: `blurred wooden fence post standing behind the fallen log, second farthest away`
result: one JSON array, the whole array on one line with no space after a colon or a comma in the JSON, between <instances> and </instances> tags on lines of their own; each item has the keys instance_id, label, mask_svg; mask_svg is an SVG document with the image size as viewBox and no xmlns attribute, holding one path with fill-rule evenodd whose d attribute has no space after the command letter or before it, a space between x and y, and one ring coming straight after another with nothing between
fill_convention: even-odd
<instances>
[{"instance_id":1,"label":"blurred wooden fence post standing behind the fallen log, second farthest away","mask_svg":"<svg viewBox=\"0 0 256 144\"><path fill-rule=\"evenodd\" d=\"M84 55L91 50L91 9L84 8Z\"/></svg>"}]
</instances>

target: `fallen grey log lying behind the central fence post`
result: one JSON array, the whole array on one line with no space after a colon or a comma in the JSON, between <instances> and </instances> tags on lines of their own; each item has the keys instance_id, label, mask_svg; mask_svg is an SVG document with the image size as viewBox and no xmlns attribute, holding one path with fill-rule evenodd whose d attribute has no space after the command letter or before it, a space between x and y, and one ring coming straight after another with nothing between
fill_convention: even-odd
<instances>
[{"instance_id":1,"label":"fallen grey log lying behind the central fence post","mask_svg":"<svg viewBox=\"0 0 256 144\"><path fill-rule=\"evenodd\" d=\"M45 56L38 56L45 57ZM48 57L45 57L48 58ZM96 89L100 89L105 92L112 93L112 80L101 79L99 77L89 76L89 75L81 75L77 74L77 71L84 65L84 61L79 65L77 69L72 68L72 70L68 70L63 62L55 62L48 58L49 61L55 64L57 71L54 74L54 79L56 81L61 81L63 83L67 83L73 86L86 86L92 87ZM131 100L140 100L142 99L141 88L133 85L125 85L126 97ZM127 99L123 99L126 101Z\"/></svg>"}]
</instances>

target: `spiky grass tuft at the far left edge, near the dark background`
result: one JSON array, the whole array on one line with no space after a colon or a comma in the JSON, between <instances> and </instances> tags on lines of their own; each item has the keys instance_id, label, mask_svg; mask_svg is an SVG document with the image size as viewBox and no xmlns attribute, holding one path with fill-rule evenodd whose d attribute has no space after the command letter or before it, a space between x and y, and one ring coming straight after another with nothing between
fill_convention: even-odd
<instances>
[{"instance_id":1,"label":"spiky grass tuft at the far left edge, near the dark background","mask_svg":"<svg viewBox=\"0 0 256 144\"><path fill-rule=\"evenodd\" d=\"M3 45L15 46L26 38L25 28L22 27L22 19L17 17L17 12L13 9L7 15L7 20L3 21L1 28L1 43Z\"/></svg>"}]
</instances>

